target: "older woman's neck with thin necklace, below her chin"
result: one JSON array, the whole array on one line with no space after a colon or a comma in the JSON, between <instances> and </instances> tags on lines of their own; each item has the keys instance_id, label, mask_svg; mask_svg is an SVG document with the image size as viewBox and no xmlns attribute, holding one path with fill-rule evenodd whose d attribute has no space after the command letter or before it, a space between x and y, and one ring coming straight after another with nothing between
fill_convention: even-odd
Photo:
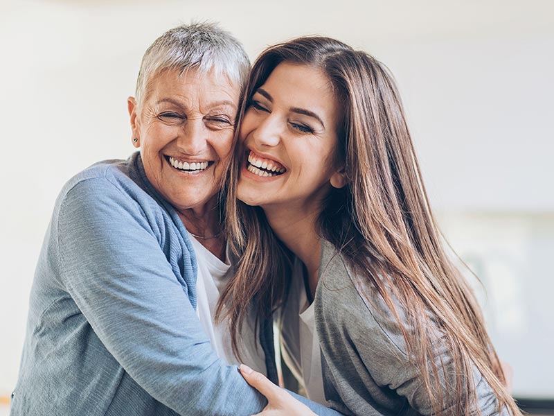
<instances>
[{"instance_id":1,"label":"older woman's neck with thin necklace, below her chin","mask_svg":"<svg viewBox=\"0 0 554 416\"><path fill-rule=\"evenodd\" d=\"M177 214L190 234L198 236L197 240L220 260L225 260L225 235L220 223L220 210L217 196L202 207L178 209ZM204 239L202 238L204 237ZM208 237L207 239L205 237Z\"/></svg>"}]
</instances>

